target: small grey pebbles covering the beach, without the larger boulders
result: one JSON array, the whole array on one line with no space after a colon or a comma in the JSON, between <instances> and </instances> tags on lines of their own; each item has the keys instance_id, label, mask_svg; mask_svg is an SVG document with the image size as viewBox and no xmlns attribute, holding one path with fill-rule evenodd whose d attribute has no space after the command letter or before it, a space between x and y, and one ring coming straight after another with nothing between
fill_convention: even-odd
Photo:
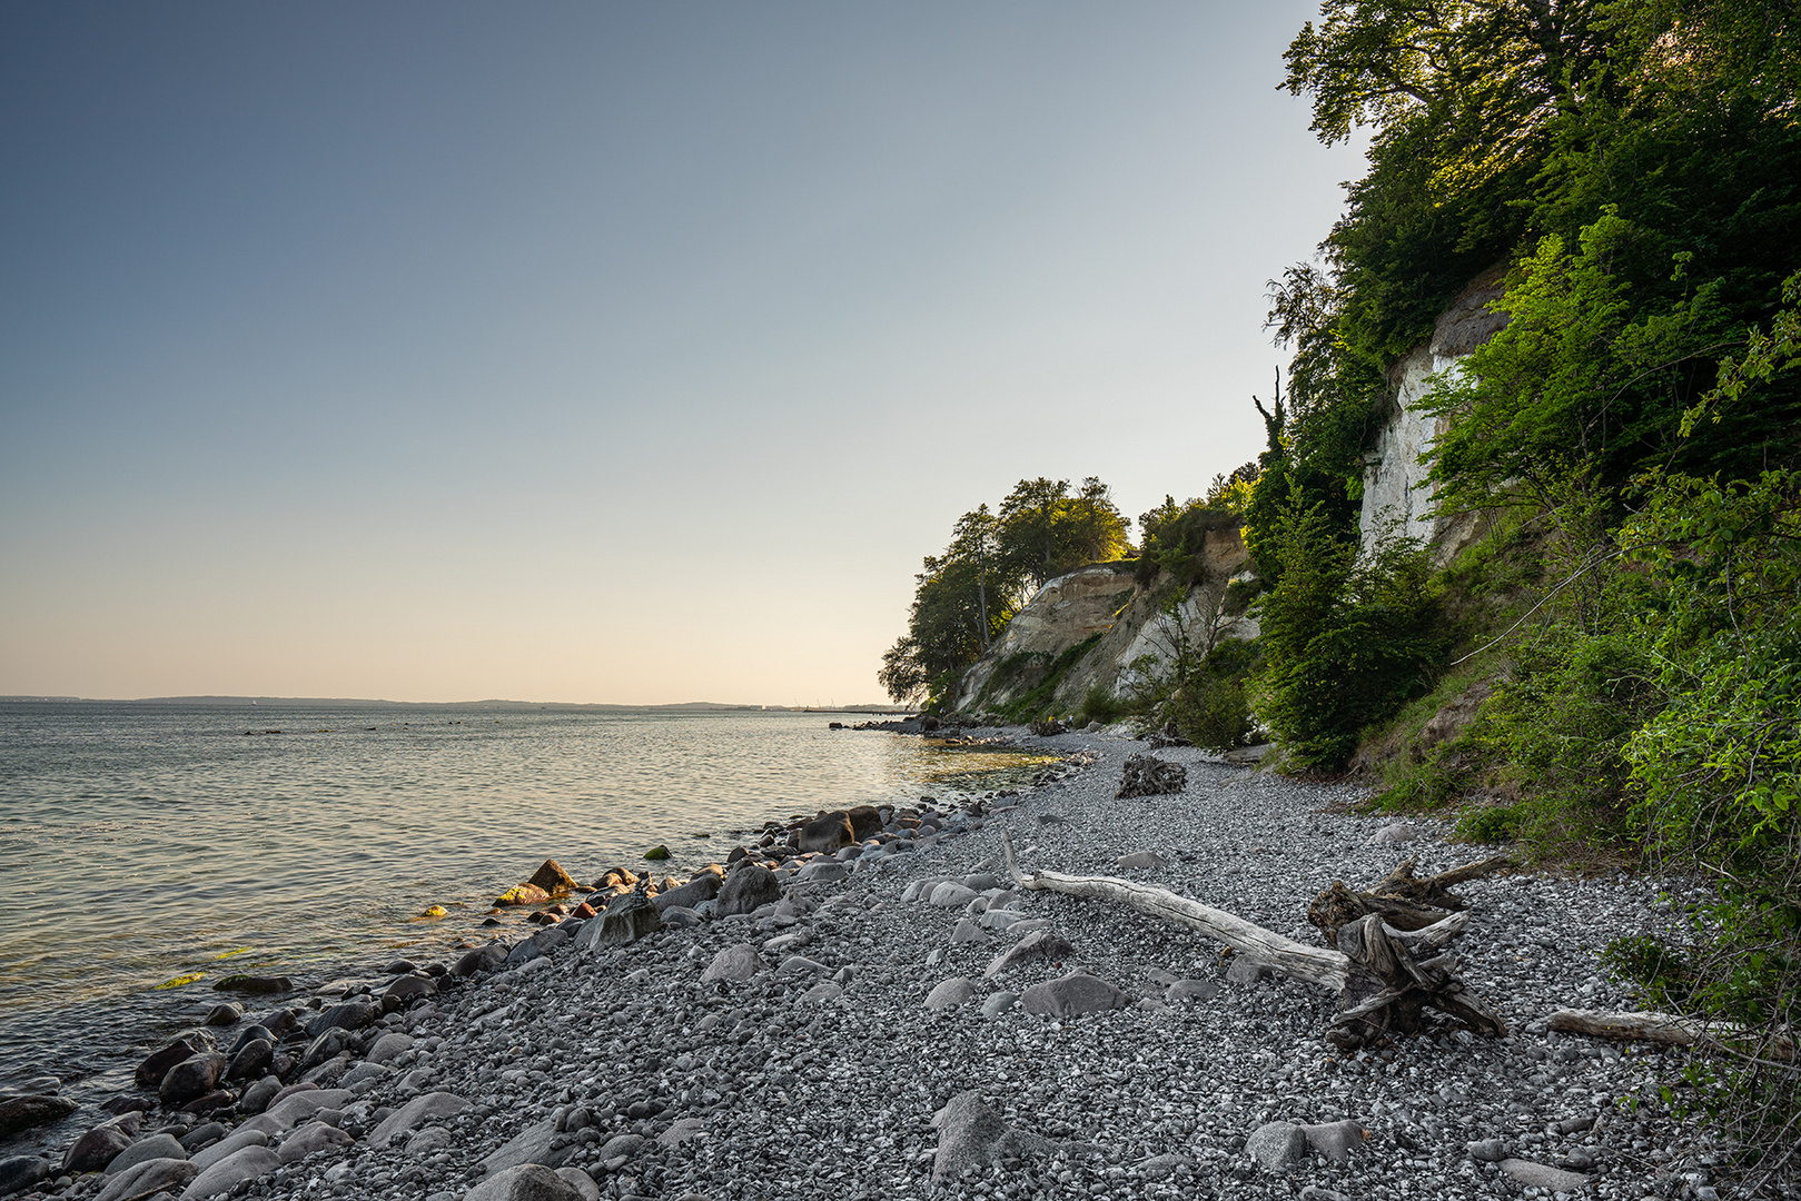
<instances>
[{"instance_id":1,"label":"small grey pebbles covering the beach, without the larger boulders","mask_svg":"<svg viewBox=\"0 0 1801 1201\"><path fill-rule=\"evenodd\" d=\"M555 1160L571 1176L585 1172L575 1181L582 1196L713 1201L794 1196L796 1179L819 1172L837 1172L832 1192L857 1197L946 1188L1162 1197L1203 1185L1234 1196L1293 1196L1300 1183L1320 1197L1327 1194L1318 1190L1511 1196L1520 1185L1493 1160L1470 1152L1471 1143L1497 1138L1507 1151L1497 1158L1576 1170L1599 1196L1641 1196L1632 1187L1659 1172L1707 1170L1682 1161L1668 1116L1650 1116L1655 1106L1626 1113L1626 1098L1653 1095L1646 1089L1677 1075L1677 1055L1543 1030L1552 1008L1617 1007L1621 998L1599 978L1594 956L1603 935L1623 933L1623 922L1661 920L1648 880L1515 875L1461 888L1473 913L1468 980L1497 1001L1513 1034L1500 1041L1448 1034L1344 1055L1320 1041L1331 998L1282 980L1232 980L1219 947L1198 935L1050 893L991 897L994 918L980 909L965 915L973 906L902 897L910 884L917 895L924 879L955 879L958 888L1005 884L978 879L1005 877L996 830L1005 825L1027 868L1115 873L1120 855L1149 850L1163 864L1131 875L1302 936L1309 933L1306 902L1331 879L1372 882L1403 852L1417 852L1423 870L1439 870L1470 859L1468 848L1430 837L1405 848L1372 846L1367 839L1383 819L1331 812L1354 799L1354 789L1263 776L1190 749L1158 753L1187 767L1181 794L1120 801L1111 796L1118 767L1144 744L1090 735L1019 742L1088 754L1091 765L998 798L1003 805L965 816L956 832L955 821L946 823L944 834L915 839L911 852L870 855L841 879L837 868L800 879L827 859L796 864L778 880L782 898L755 917L668 924L611 947L582 945L580 931L546 954L510 947L510 969L497 965L438 996L416 996L339 1039L319 1044L322 1028L312 1039L288 1035L283 1053L330 1052L286 1077L313 1075L319 1088L304 1091L319 1093L322 1124L301 1113L312 1104L303 1091L277 1102L274 1118L245 1113L268 1097L234 1097L227 1109L176 1125L193 1138L213 1116L232 1116L231 1136L247 1140L236 1160L250 1170L238 1188L272 1197L456 1201L483 1176L510 1167L508 1160ZM982 980L983 965L1034 926L1068 938L1073 951ZM1511 938L1515 927L1538 942ZM731 956L740 971L755 962L762 971L706 980L710 969L713 976L722 963L729 969ZM994 999L1066 978L1077 965L1108 981L1126 1008L1037 1017L1019 1010L1018 994L1012 1003ZM405 983L416 980L423 974L362 983L373 987L375 1001L396 987L423 994L423 983ZM947 981L969 985L944 996L967 990L969 998L928 1008ZM335 994L290 994L277 1008L312 1003L317 1008L301 1016L317 1025L333 1007L346 1008L351 983ZM985 1016L989 1008L996 1012ZM250 1014L258 1014L254 999ZM243 1023L218 1030L220 1050L231 1050L240 1030ZM980 1089L992 1115L1016 1129L1014 1151L994 1165L974 1165L980 1176L967 1188L942 1170L935 1183L951 1131L940 1134L929 1120L969 1089ZM384 1127L394 1125L394 1115L443 1093L466 1106L418 1118L427 1133L414 1131L403 1145L375 1145L393 1136ZM1596 1122L1574 1129L1588 1118ZM166 1120L157 1107L133 1131L137 1140ZM1347 1163L1302 1156L1284 1172L1268 1172L1246 1158L1244 1140L1270 1122L1344 1120L1372 1134ZM259 1156L245 1134L258 1125L277 1127L259 1131L268 1143ZM1565 1125L1572 1129L1551 1133ZM308 1140L321 1145L301 1158ZM0 1151L18 1154L29 1142L13 1138ZM283 1156L292 1161L281 1163ZM74 1176L67 1188L41 1196L92 1197L108 1183L117 1176ZM195 1188L173 1183L173 1196ZM200 1185L211 1188L207 1179Z\"/></svg>"}]
</instances>

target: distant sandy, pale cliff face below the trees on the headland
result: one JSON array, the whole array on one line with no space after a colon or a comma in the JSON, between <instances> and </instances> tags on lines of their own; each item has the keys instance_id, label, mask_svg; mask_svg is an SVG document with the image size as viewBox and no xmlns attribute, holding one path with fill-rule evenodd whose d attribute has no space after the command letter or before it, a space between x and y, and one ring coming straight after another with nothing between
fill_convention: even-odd
<instances>
[{"instance_id":1,"label":"distant sandy, pale cliff face below the trees on the headland","mask_svg":"<svg viewBox=\"0 0 1801 1201\"><path fill-rule=\"evenodd\" d=\"M1165 576L1138 585L1136 564L1097 564L1052 580L964 675L956 709L983 711L1018 700L1061 655L1088 639L1095 639L1093 646L1055 688L1057 709L1079 708L1097 684L1115 697L1131 693L1174 655L1183 628L1196 646L1208 637L1255 637L1255 621L1225 612L1226 587L1250 565L1239 531L1208 535L1205 562L1205 580L1181 600L1180 619L1165 612L1174 583Z\"/></svg>"}]
</instances>

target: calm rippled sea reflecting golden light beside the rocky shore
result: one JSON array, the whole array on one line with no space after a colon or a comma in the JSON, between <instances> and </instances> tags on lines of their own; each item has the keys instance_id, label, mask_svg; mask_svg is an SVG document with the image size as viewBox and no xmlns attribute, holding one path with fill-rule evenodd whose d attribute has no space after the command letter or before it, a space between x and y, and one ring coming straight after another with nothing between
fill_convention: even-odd
<instances>
[{"instance_id":1,"label":"calm rippled sea reflecting golden light beside the rocky shore","mask_svg":"<svg viewBox=\"0 0 1801 1201\"><path fill-rule=\"evenodd\" d=\"M827 720L0 702L0 1084L115 1086L223 974L445 958L546 857L589 882L666 843L683 875L767 817L1043 763Z\"/></svg>"}]
</instances>

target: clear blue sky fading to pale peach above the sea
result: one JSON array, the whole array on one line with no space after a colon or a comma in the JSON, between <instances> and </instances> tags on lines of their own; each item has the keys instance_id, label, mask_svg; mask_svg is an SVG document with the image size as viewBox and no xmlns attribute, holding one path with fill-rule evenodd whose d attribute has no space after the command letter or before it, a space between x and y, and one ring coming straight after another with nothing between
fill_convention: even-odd
<instances>
[{"instance_id":1,"label":"clear blue sky fading to pale peach above the sea","mask_svg":"<svg viewBox=\"0 0 1801 1201\"><path fill-rule=\"evenodd\" d=\"M0 5L0 695L881 699L1255 457L1313 4Z\"/></svg>"}]
</instances>

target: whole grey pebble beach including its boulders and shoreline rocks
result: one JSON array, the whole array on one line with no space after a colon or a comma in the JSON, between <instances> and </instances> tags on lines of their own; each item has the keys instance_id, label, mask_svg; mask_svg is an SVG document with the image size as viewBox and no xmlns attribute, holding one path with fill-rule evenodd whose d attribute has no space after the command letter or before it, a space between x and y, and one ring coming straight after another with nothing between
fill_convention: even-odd
<instances>
[{"instance_id":1,"label":"whole grey pebble beach including its boulders and shoreline rocks","mask_svg":"<svg viewBox=\"0 0 1801 1201\"><path fill-rule=\"evenodd\" d=\"M1194 749L1154 751L1187 771L1180 792L1118 799L1142 742L969 735L1063 767L964 808L884 810L839 852L776 853L771 826L722 891L715 877L656 904L654 877L609 877L596 917L575 895L573 915L520 911L439 963L222 992L241 1017L187 1032L110 1111L0 1143L0 1196L1727 1196L1662 1104L1679 1052L1545 1026L1634 1008L1599 953L1677 922L1670 882L1457 886L1461 972L1507 1037L1444 1023L1347 1053L1322 1037L1320 989L1124 908L1014 888L1001 830L1027 871L1122 875L1315 945L1308 904L1333 880L1491 848ZM193 1079L171 1089L178 1070Z\"/></svg>"}]
</instances>

